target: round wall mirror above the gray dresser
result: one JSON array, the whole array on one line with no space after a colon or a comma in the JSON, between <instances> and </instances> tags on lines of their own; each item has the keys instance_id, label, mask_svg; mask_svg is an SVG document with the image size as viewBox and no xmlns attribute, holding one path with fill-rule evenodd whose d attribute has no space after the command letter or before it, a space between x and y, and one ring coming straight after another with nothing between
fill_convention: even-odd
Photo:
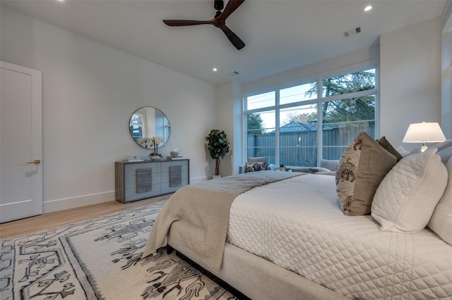
<instances>
[{"instance_id":1,"label":"round wall mirror above the gray dresser","mask_svg":"<svg viewBox=\"0 0 452 300\"><path fill-rule=\"evenodd\" d=\"M157 148L166 143L171 134L169 120L165 113L150 106L145 106L135 111L129 120L129 132L136 144L145 149L152 146L145 142L145 138L161 137L162 143Z\"/></svg>"}]
</instances>

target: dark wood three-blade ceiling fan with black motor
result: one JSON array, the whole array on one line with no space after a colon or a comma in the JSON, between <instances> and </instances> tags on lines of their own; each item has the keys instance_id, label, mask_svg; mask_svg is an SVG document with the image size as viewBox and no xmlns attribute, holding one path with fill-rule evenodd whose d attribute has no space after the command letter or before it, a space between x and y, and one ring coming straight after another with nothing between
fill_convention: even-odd
<instances>
[{"instance_id":1,"label":"dark wood three-blade ceiling fan with black motor","mask_svg":"<svg viewBox=\"0 0 452 300\"><path fill-rule=\"evenodd\" d=\"M245 0L229 0L227 1L225 10L222 9L225 6L225 2L223 0L214 0L213 7L217 11L215 17L212 20L163 20L168 26L191 26L191 25L201 25L201 24L210 24L218 27L225 32L226 37L231 41L231 43L237 48L237 50L242 49L245 46L245 43L237 37L237 35L232 32L226 26L226 18L230 16Z\"/></svg>"}]
</instances>

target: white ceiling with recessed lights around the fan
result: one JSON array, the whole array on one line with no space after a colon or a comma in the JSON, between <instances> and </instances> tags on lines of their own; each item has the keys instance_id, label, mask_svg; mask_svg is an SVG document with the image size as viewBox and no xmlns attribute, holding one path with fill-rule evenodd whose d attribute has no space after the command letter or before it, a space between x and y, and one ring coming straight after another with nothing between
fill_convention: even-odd
<instances>
[{"instance_id":1,"label":"white ceiling with recessed lights around the fan","mask_svg":"<svg viewBox=\"0 0 452 300\"><path fill-rule=\"evenodd\" d=\"M210 20L213 0L1 0L1 5L218 84L248 82L367 48L378 44L382 33L441 15L445 2L246 0L226 21L245 42L241 50L212 25L162 23ZM364 12L367 4L373 9ZM345 38L343 32L355 27L362 32ZM234 71L239 75L231 75Z\"/></svg>"}]
</instances>

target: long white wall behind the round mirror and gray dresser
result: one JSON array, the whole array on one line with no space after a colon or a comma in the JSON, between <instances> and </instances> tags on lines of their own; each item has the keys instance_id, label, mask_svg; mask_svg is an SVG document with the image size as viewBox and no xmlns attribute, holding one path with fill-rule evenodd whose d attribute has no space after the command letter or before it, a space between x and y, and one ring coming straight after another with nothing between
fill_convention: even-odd
<instances>
[{"instance_id":1,"label":"long white wall behind the round mirror and gray dresser","mask_svg":"<svg viewBox=\"0 0 452 300\"><path fill-rule=\"evenodd\" d=\"M169 119L161 153L190 158L191 183L210 175L204 137L215 127L215 86L8 8L0 21L1 61L42 71L44 212L114 200L114 161L150 153L129 135L142 106Z\"/></svg>"}]
</instances>

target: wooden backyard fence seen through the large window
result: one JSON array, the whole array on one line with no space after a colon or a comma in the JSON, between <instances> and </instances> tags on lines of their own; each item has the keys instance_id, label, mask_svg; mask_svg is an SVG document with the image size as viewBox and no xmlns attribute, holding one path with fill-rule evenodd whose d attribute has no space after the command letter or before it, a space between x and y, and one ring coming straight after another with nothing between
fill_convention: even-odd
<instances>
[{"instance_id":1,"label":"wooden backyard fence seen through the large window","mask_svg":"<svg viewBox=\"0 0 452 300\"><path fill-rule=\"evenodd\" d=\"M323 130L322 158L339 159L348 144L361 132L374 137L375 127ZM315 167L317 144L316 131L281 133L279 161L284 165ZM248 135L247 157L256 156L270 156L270 163L275 163L274 134Z\"/></svg>"}]
</instances>

